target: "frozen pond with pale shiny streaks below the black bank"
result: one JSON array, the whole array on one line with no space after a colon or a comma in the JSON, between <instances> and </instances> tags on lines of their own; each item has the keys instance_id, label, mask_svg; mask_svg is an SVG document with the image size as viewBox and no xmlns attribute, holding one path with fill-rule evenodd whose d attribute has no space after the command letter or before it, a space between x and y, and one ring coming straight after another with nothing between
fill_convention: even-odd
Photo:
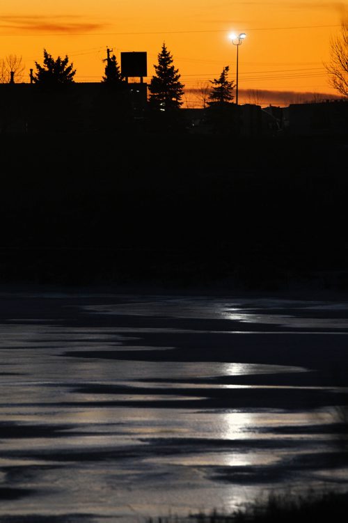
<instances>
[{"instance_id":1,"label":"frozen pond with pale shiny streaks below the black bank","mask_svg":"<svg viewBox=\"0 0 348 523\"><path fill-rule=\"evenodd\" d=\"M348 299L0 293L0 519L348 490Z\"/></svg>"}]
</instances>

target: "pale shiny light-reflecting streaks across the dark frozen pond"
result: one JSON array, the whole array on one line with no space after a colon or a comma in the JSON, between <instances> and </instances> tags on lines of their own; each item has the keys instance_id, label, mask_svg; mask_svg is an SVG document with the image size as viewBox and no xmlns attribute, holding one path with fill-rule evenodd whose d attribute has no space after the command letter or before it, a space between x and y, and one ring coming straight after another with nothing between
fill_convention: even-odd
<instances>
[{"instance_id":1,"label":"pale shiny light-reflecting streaks across the dark frozen pond","mask_svg":"<svg viewBox=\"0 0 348 523\"><path fill-rule=\"evenodd\" d=\"M63 293L57 296L65 297ZM40 294L35 297L40 299ZM110 301L110 295L107 298ZM166 340L171 341L174 333L204 336L207 332L239 332L243 336L253 334L260 340L258 336L265 332L258 324L269 325L268 334L274 332L273 327L294 329L278 332L284 336L296 334L296 329L301 329L301 334L306 334L310 343L313 333L309 329L332 336L338 334L338 329L348 327L345 318L334 318L335 311L340 311L342 316L342 311L348 310L347 304L335 306L314 300L212 299L209 296L145 299L115 295L115 304L95 304L82 306L82 309L85 315L81 327L63 322L56 325L54 318L40 321L23 317L22 320L14 317L0 325L0 423L1 427L13 425L23 430L21 437L1 439L0 467L17 467L22 476L18 470L15 485L37 489L35 499L6 500L8 514L49 515L54 510L57 515L71 511L95 515L96 523L102 523L107 515L117 517L122 523L139 523L147 511L148 515L166 516L171 508L180 515L200 509L209 511L224 507L231 510L247 497L254 499L262 490L274 485L270 481L269 485L266 482L260 488L237 483L231 486L214 481L208 474L209 467L253 469L260 466L267 474L267 467L277 465L283 458L296 459L306 452L319 456L322 449L326 453L335 450L335 435L319 430L321 426L335 423L331 407L303 412L256 410L248 409L247 405L244 409L208 410L180 408L177 402L178 398L182 402L187 398L200 398L196 394L193 398L181 396L181 388L193 393L195 388L208 392L212 387L246 387L258 388L260 393L267 388L267 385L255 387L250 384L252 381L240 386L219 383L212 378L306 373L304 367L218 361L139 363L67 358L61 354L71 350L154 350L145 342L142 344L142 333L167 334ZM306 314L313 311L313 314L309 312L313 318L301 317L304 309ZM315 317L315 311L324 315L325 310L330 311L330 317ZM88 325L91 316L104 314L132 316L135 326L123 325L121 320L112 325L112 318L109 318L109 327ZM151 326L146 322L148 316L152 318ZM156 327L153 321L156 317L224 320L224 323L207 322L206 329L204 322L194 325L177 322L179 328L173 322L168 325L162 322ZM229 320L230 324L225 322ZM243 324L248 324L248 332L242 331ZM330 329L335 329L335 333ZM171 343L167 345L157 350L171 350ZM193 380L197 377L206 381L196 384ZM91 386L94 384L106 387L106 393L93 393ZM108 385L128 385L129 393L123 390L120 394L108 393ZM149 387L152 391L137 394L139 387ZM161 393L162 387L170 389L171 393ZM331 387L305 385L286 388L290 391L300 389L303 394L307 389L331 390ZM158 389L158 394L153 389ZM347 393L347 388L341 387L340 391ZM103 405L103 402L113 400L134 400L136 407ZM173 400L175 405L144 408L141 402L145 400ZM75 401L79 402L78 406L74 405ZM307 432L306 427L310 428ZM38 428L41 432L35 432ZM277 432L277 428L283 428L283 432ZM42 437L38 437L39 432ZM157 453L157 442L164 446L163 455ZM264 450L263 445L271 445L272 450L269 447ZM120 460L125 449L131 451L129 457ZM61 453L64 458L65 452L74 453L74 461L69 462L68 455L66 462L52 458L54 453ZM97 456L99 452L105 452L107 459L88 460L88 453ZM80 459L80 454L84 458ZM346 473L347 469L338 471L337 476L325 470L296 471L292 482L276 487L279 491L283 486L288 489L290 483L291 487L299 489L303 489L303 484L325 485L335 477L341 481ZM6 478L10 478L10 474Z\"/></svg>"}]
</instances>

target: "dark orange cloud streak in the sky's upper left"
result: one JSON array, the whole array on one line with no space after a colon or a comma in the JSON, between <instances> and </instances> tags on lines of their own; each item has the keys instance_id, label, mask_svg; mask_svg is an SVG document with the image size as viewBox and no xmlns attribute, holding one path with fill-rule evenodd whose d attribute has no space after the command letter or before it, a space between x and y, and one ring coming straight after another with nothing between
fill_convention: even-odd
<instances>
[{"instance_id":1,"label":"dark orange cloud streak in the sky's upper left","mask_svg":"<svg viewBox=\"0 0 348 523\"><path fill-rule=\"evenodd\" d=\"M84 20L79 16L0 15L0 29L30 33L91 33L106 28L104 23Z\"/></svg>"}]
</instances>

